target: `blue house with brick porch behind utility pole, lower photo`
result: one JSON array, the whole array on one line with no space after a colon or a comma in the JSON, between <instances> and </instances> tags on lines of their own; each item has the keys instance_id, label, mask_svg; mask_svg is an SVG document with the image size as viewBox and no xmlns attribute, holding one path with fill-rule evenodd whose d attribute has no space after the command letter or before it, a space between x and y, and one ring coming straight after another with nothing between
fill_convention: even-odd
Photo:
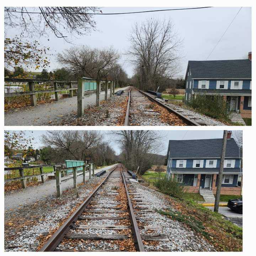
<instances>
[{"instance_id":1,"label":"blue house with brick porch behind utility pole, lower photo","mask_svg":"<svg viewBox=\"0 0 256 256\"><path fill-rule=\"evenodd\" d=\"M231 136L231 133L229 133ZM223 139L169 140L167 177L175 178L186 191L216 193ZM233 138L226 144L221 194L241 194L241 150Z\"/></svg>"}]
</instances>

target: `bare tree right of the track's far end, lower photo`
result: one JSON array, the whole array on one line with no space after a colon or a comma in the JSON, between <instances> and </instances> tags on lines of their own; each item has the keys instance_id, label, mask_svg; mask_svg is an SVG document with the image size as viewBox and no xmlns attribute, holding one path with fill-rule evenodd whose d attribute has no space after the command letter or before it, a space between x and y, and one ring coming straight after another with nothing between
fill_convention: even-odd
<instances>
[{"instance_id":1,"label":"bare tree right of the track's far end, lower photo","mask_svg":"<svg viewBox=\"0 0 256 256\"><path fill-rule=\"evenodd\" d=\"M159 150L160 135L153 130L112 131L113 140L121 145L123 162L129 170L142 175L154 163L152 154Z\"/></svg>"}]
</instances>

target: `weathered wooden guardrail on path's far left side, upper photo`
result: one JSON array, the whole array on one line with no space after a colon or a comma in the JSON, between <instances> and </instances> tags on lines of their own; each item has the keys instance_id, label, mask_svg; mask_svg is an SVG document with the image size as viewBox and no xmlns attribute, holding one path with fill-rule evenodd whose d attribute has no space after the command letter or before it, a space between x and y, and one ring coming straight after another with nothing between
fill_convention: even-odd
<instances>
[{"instance_id":1,"label":"weathered wooden guardrail on path's far left side, upper photo","mask_svg":"<svg viewBox=\"0 0 256 256\"><path fill-rule=\"evenodd\" d=\"M59 83L67 84L67 87L65 87L64 89L69 91L69 97L73 97L73 91L77 90L77 88L73 87L73 84L78 83L77 81L63 81L63 80L49 80L49 79L27 79L27 78L5 78L4 80L5 80L5 82L22 82L22 83L27 82L29 91L5 93L4 96L6 98L6 97L13 97L13 96L30 95L31 106L37 106L36 94L54 92L55 93L55 101L58 101L59 100L59 92L63 91L63 88L58 89ZM35 89L34 89L35 82L53 83L54 89L35 91Z\"/></svg>"}]
</instances>

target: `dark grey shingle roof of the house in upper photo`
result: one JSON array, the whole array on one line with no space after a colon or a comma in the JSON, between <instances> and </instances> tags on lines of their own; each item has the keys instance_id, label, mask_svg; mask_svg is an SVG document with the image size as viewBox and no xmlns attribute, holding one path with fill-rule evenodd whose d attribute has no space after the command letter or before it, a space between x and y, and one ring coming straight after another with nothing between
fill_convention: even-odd
<instances>
[{"instance_id":1,"label":"dark grey shingle roof of the house in upper photo","mask_svg":"<svg viewBox=\"0 0 256 256\"><path fill-rule=\"evenodd\" d=\"M251 60L188 61L192 78L251 79Z\"/></svg>"}]
</instances>

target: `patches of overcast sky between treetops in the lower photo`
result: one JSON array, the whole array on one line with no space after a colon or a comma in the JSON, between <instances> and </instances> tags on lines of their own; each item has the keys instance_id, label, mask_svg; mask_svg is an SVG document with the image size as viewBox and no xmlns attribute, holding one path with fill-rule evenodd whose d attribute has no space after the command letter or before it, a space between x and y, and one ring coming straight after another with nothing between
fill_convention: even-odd
<instances>
[{"instance_id":1,"label":"patches of overcast sky between treetops in the lower photo","mask_svg":"<svg viewBox=\"0 0 256 256\"><path fill-rule=\"evenodd\" d=\"M45 130L26 130L24 131L26 134L26 138L33 137L34 142L33 146L34 149L41 148L44 146L42 143L42 135L46 134ZM102 130L99 131L102 135L104 140L111 142L113 139L113 135L111 135L110 130ZM162 139L162 147L159 150L158 154L166 155L168 149L169 140L191 140L191 139L218 139L223 138L223 130L159 130L157 131ZM237 131L233 131L234 132ZM116 151L117 154L120 153L118 143L111 142L111 146Z\"/></svg>"}]
</instances>

